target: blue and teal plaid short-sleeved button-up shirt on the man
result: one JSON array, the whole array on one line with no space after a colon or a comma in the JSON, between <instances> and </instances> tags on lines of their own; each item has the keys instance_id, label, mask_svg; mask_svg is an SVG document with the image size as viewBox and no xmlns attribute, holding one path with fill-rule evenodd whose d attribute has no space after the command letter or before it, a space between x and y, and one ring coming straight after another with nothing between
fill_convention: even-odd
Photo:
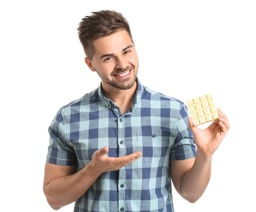
<instances>
[{"instance_id":1,"label":"blue and teal plaid short-sleeved button-up shirt on the man","mask_svg":"<svg viewBox=\"0 0 256 212\"><path fill-rule=\"evenodd\" d=\"M48 132L47 162L84 168L96 150L109 157L142 156L120 170L103 172L75 201L74 212L174 212L170 160L196 155L186 105L143 86L138 77L132 107L123 115L100 86L56 113Z\"/></svg>"}]
</instances>

